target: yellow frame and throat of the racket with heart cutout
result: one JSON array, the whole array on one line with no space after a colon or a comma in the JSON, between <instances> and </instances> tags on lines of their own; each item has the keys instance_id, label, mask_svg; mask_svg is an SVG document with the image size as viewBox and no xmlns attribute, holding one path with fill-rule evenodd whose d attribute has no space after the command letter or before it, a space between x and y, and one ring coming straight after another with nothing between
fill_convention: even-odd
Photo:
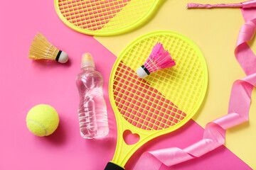
<instances>
[{"instance_id":1,"label":"yellow frame and throat of the racket with heart cutout","mask_svg":"<svg viewBox=\"0 0 256 170\"><path fill-rule=\"evenodd\" d=\"M181 120L180 123L178 123L174 126L171 126L170 128L163 129L163 130L143 130L143 129L137 128L134 125L132 125L131 123L129 123L127 120L124 119L123 115L121 113L119 113L116 103L114 101L114 94L112 93L113 85L114 85L114 75L115 75L115 72L119 65L119 62L122 61L125 63L125 61L123 61L123 57L124 57L124 55L127 54L127 52L132 51L131 50L132 47L135 47L135 45L139 45L139 42L142 42L143 40L145 41L147 38L154 38L154 36L157 37L159 35L175 36L176 38L182 39L184 42L186 42L186 43L188 43L188 45L190 45L191 49L193 49L194 52L196 52L196 56L197 56L196 60L199 60L199 62L201 63L201 68L202 68L202 72L203 72L203 82L201 84L202 89L201 89L200 96L198 96L198 102L191 109L191 113L187 113L188 115L186 116L186 118ZM153 45L151 47L153 47ZM164 47L167 48L167 50L169 50L168 47L166 47L166 46L164 46ZM133 51L135 52L135 50L133 50ZM171 52L171 51L169 51L169 52ZM174 58L174 60L176 59L175 57L173 57L173 58ZM125 64L127 64L127 66L131 67L133 70L136 71L135 67L141 66L143 60L144 59L138 60L137 63L135 63L135 64L134 64L134 62L125 63ZM186 62L186 60L184 60L183 62ZM183 64L183 63L181 61L176 61L176 64ZM177 66L175 66L175 67L177 67ZM159 70L157 72L161 72L161 70ZM196 73L196 71L195 71L195 73ZM149 84L150 84L150 81L151 81L150 77L155 77L156 74L149 75L149 79L146 79L146 81L149 82ZM151 81L151 82L153 82L153 81ZM149 140L152 140L154 137L158 137L159 135L164 135L166 133L174 131L174 130L180 128L186 122L188 122L188 120L190 120L192 118L192 116L196 113L199 106L201 106L203 98L206 94L207 84L208 84L208 70L206 67L206 61L204 60L204 57L203 57L201 51L198 49L198 47L188 38L184 37L181 34L174 33L171 31L156 31L154 33L149 33L149 34L143 35L142 37L138 38L137 40L134 40L134 42L132 42L130 45L128 45L124 49L124 51L119 55L116 62L114 63L114 67L112 68L112 72L110 75L110 86L109 86L110 102L111 102L112 108L114 110L114 115L117 120L117 129L118 129L117 130L117 148L116 148L116 151L114 154L114 158L112 159L112 163L117 164L118 166L122 166L124 168L124 165L128 161L129 157L131 157L132 154L134 154L134 152L137 149L139 149L139 147L144 145L144 143L148 142ZM154 88L157 89L158 91L161 91L162 87L154 86ZM161 93L164 96L167 96L166 98L168 98L168 94L164 94L164 91L162 91ZM174 102L174 104L176 104L176 103ZM186 113L186 111L185 111L185 113ZM134 145L127 145L123 140L123 133L125 130L131 130L131 132L133 134L138 134L140 137L139 142L137 142Z\"/></svg>"}]
</instances>

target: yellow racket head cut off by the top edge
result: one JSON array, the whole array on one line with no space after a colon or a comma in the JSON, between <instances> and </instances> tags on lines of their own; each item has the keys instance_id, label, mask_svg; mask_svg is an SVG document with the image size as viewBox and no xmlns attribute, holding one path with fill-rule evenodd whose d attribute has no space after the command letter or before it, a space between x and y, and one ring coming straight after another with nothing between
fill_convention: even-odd
<instances>
[{"instance_id":1,"label":"yellow racket head cut off by the top edge","mask_svg":"<svg viewBox=\"0 0 256 170\"><path fill-rule=\"evenodd\" d=\"M88 35L115 35L142 23L159 0L55 0L60 19Z\"/></svg>"}]
</instances>

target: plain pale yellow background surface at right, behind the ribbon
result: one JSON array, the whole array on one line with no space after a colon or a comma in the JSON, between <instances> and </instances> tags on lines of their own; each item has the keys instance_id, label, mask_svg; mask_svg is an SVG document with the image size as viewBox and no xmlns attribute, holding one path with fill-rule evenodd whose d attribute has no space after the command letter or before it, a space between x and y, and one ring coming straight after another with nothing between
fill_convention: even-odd
<instances>
[{"instance_id":1,"label":"plain pale yellow background surface at right, behind the ribbon","mask_svg":"<svg viewBox=\"0 0 256 170\"><path fill-rule=\"evenodd\" d=\"M240 26L244 23L240 8L186 9L188 3L239 3L240 0L162 0L154 14L139 28L111 37L96 37L114 55L141 35L155 30L172 30L181 33L198 45L208 66L206 98L193 117L205 128L206 123L228 113L228 102L233 82L245 77L235 60L234 49ZM250 46L256 49L254 41ZM254 50L256 52L256 50ZM256 67L256 66L255 66ZM252 91L252 105L248 123L227 131L225 146L252 169L256 169L256 96Z\"/></svg>"}]
</instances>

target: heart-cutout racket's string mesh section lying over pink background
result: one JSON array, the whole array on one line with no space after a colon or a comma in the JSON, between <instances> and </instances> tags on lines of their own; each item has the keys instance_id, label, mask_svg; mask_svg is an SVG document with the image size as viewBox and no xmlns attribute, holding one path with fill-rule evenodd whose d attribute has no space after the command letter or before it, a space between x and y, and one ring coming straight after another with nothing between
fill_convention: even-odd
<instances>
[{"instance_id":1,"label":"heart-cutout racket's string mesh section lying over pink background","mask_svg":"<svg viewBox=\"0 0 256 170\"><path fill-rule=\"evenodd\" d=\"M186 113L151 87L124 62L114 76L114 101L125 120L144 130L162 130L179 123Z\"/></svg>"}]
</instances>

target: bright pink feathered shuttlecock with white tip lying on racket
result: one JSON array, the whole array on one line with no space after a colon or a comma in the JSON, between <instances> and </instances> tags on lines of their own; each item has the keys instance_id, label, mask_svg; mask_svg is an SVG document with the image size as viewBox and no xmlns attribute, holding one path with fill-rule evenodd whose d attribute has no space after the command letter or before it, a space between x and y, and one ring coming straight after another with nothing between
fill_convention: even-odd
<instances>
[{"instance_id":1,"label":"bright pink feathered shuttlecock with white tip lying on racket","mask_svg":"<svg viewBox=\"0 0 256 170\"><path fill-rule=\"evenodd\" d=\"M164 47L161 43L157 42L153 47L153 50L149 57L146 59L146 62L137 69L137 75L144 79L150 73L156 72L159 69L165 69L168 67L175 66L174 59L171 58L171 54L168 50L164 50Z\"/></svg>"}]
</instances>

